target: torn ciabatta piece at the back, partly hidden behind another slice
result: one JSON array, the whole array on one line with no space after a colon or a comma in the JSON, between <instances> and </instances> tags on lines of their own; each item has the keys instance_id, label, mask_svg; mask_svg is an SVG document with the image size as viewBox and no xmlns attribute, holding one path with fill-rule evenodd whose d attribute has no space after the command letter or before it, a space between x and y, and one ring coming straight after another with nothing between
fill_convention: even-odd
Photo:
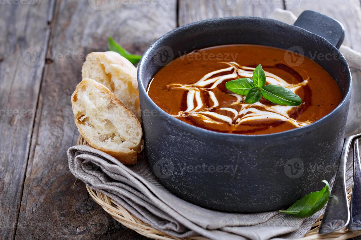
<instances>
[{"instance_id":1,"label":"torn ciabatta piece at the back, partly hidden behind another slice","mask_svg":"<svg viewBox=\"0 0 361 240\"><path fill-rule=\"evenodd\" d=\"M112 51L90 53L83 64L82 78L108 87L140 120L137 70L129 60Z\"/></svg>"}]
</instances>

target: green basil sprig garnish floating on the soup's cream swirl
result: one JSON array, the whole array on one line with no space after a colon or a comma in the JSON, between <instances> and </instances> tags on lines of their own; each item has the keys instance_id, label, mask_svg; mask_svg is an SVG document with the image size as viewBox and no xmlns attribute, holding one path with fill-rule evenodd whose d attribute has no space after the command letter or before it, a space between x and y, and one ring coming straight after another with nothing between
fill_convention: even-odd
<instances>
[{"instance_id":1,"label":"green basil sprig garnish floating on the soup's cream swirl","mask_svg":"<svg viewBox=\"0 0 361 240\"><path fill-rule=\"evenodd\" d=\"M279 105L298 106L302 99L286 87L266 84L266 74L259 64L253 71L251 78L238 78L226 82L226 88L239 95L246 96L246 103L252 104L258 102L262 96Z\"/></svg>"}]
</instances>

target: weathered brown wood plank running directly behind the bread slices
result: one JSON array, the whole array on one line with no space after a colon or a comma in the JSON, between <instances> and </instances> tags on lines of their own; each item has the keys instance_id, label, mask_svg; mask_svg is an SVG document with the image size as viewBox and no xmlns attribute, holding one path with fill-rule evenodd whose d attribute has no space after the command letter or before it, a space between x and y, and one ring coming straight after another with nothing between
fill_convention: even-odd
<instances>
[{"instance_id":1,"label":"weathered brown wood plank running directly behind the bread slices","mask_svg":"<svg viewBox=\"0 0 361 240\"><path fill-rule=\"evenodd\" d=\"M88 196L81 181L73 188L75 177L66 157L66 150L79 134L70 95L81 81L84 54L106 51L108 36L141 54L176 27L175 1L169 6L130 2L136 1L103 1L107 5L98 10L92 9L88 1L57 2L39 98L46 114L35 122L17 239L145 239L116 224Z\"/></svg>"}]
</instances>

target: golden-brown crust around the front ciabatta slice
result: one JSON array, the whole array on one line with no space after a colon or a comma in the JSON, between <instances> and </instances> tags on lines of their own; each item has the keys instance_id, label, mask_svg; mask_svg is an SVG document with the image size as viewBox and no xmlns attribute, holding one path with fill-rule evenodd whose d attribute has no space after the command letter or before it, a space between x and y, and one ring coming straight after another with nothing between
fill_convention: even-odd
<instances>
[{"instance_id":1,"label":"golden-brown crust around the front ciabatta slice","mask_svg":"<svg viewBox=\"0 0 361 240\"><path fill-rule=\"evenodd\" d=\"M108 94L114 103L116 103L117 105L119 105L120 107L123 108L123 110L129 114L130 118L133 118L134 121L136 121L136 125L137 128L140 130L140 132L142 132L142 127L139 123L138 118L135 117L134 113L126 106L122 103L121 100L119 100L107 87L101 85L100 83L96 82L95 80L89 79L89 78L84 78L76 87L75 91L73 92L73 94L71 95L71 104L73 106L73 112L74 112L74 106L77 104L75 100L75 96L77 96L79 94L79 92L82 90L83 86L87 86L87 85L97 85L96 87L101 88L101 90L103 92L105 92L106 94ZM119 160L119 162L123 163L123 164L135 164L137 162L137 152L140 150L141 147L141 143L142 143L142 136L139 137L139 142L138 144L136 144L133 148L131 148L128 152L122 152L122 151L113 151L113 150L109 150L109 149L105 149L99 145L96 144L96 142L93 142L92 139L90 139L87 135L86 132L84 132L82 130L82 124L79 124L77 121L77 117L76 117L76 113L74 113L74 122L76 124L76 126L78 127L78 130L80 132L80 134L84 137L84 139L88 142L88 144L95 149L98 149L100 151L103 151L104 153L107 153L109 155L111 155L112 157L116 158L117 160Z\"/></svg>"}]
</instances>

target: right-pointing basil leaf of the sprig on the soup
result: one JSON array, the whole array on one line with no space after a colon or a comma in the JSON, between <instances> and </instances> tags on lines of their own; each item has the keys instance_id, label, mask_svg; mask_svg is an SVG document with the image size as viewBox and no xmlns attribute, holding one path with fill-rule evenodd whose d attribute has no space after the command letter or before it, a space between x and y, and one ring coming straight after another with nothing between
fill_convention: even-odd
<instances>
[{"instance_id":1,"label":"right-pointing basil leaf of the sprig on the soup","mask_svg":"<svg viewBox=\"0 0 361 240\"><path fill-rule=\"evenodd\" d=\"M298 106L302 99L286 87L278 85L266 85L261 89L262 96L275 104Z\"/></svg>"}]
</instances>

